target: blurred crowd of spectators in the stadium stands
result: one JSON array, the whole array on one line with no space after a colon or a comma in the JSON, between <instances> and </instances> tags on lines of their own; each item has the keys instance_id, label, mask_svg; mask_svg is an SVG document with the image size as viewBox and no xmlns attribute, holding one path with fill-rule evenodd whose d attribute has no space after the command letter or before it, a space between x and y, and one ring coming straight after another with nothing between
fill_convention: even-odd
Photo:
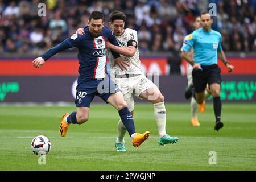
<instances>
[{"instance_id":1,"label":"blurred crowd of spectators in the stadium stands","mask_svg":"<svg viewBox=\"0 0 256 182\"><path fill-rule=\"evenodd\" d=\"M46 3L46 16L38 4ZM256 2L211 1L217 5L214 30L222 34L224 51L256 50ZM0 53L40 54L85 27L92 11L102 11L105 23L112 10L126 14L126 27L138 32L139 49L179 51L192 22L210 2L205 0L0 0ZM69 50L72 51L72 50Z\"/></svg>"}]
</instances>

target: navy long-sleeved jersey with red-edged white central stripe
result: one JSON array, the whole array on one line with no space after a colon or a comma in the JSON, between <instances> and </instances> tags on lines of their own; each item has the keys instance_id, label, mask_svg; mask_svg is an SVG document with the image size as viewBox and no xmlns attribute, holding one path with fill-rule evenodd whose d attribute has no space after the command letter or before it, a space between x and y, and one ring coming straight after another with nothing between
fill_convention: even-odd
<instances>
[{"instance_id":1,"label":"navy long-sleeved jersey with red-edged white central stripe","mask_svg":"<svg viewBox=\"0 0 256 182\"><path fill-rule=\"evenodd\" d=\"M44 60L49 59L55 53L63 49L77 47L79 53L79 74L80 78L105 78L106 73L106 47L105 42L118 46L113 32L108 27L103 27L100 35L95 38L90 34L89 28L84 28L84 35L73 34L71 38L49 49L42 57ZM115 58L120 57L119 53L112 52Z\"/></svg>"}]
</instances>

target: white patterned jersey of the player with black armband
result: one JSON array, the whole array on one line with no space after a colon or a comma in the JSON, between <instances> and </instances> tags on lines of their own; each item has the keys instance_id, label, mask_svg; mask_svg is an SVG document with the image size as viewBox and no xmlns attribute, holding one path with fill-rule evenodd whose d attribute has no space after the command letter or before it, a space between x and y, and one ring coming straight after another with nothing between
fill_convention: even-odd
<instances>
[{"instance_id":1,"label":"white patterned jersey of the player with black armband","mask_svg":"<svg viewBox=\"0 0 256 182\"><path fill-rule=\"evenodd\" d=\"M117 38L119 47L127 47L127 42L129 40L135 40L135 42L137 42L137 48L133 57L121 55L123 57L126 57L126 59L130 60L129 62L130 66L125 71L122 71L122 69L118 65L114 66L114 57L110 52L110 50L108 49L107 55L110 61L111 76L113 77L114 75L123 75L123 74L144 74L141 69L141 61L139 60L137 31L127 28L125 29L125 32L121 36L115 36L115 38Z\"/></svg>"}]
</instances>

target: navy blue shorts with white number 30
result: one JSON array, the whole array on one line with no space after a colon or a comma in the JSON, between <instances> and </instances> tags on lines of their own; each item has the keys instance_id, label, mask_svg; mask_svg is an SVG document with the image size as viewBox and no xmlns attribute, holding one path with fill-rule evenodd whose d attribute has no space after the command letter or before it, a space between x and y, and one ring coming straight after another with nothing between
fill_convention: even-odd
<instances>
[{"instance_id":1,"label":"navy blue shorts with white number 30","mask_svg":"<svg viewBox=\"0 0 256 182\"><path fill-rule=\"evenodd\" d=\"M90 107L90 102L92 102L94 96L99 96L107 102L106 100L111 94L121 91L109 77L98 80L81 80L79 78L77 82L76 107Z\"/></svg>"}]
</instances>

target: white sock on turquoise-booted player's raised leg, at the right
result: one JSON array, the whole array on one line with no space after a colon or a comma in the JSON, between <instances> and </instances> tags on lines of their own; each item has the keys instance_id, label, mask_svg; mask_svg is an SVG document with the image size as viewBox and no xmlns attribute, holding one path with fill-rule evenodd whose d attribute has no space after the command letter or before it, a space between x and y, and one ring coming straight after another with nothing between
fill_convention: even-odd
<instances>
[{"instance_id":1,"label":"white sock on turquoise-booted player's raised leg, at the right","mask_svg":"<svg viewBox=\"0 0 256 182\"><path fill-rule=\"evenodd\" d=\"M166 135L166 106L164 101L154 104L155 107L155 121L158 125L159 137Z\"/></svg>"}]
</instances>

